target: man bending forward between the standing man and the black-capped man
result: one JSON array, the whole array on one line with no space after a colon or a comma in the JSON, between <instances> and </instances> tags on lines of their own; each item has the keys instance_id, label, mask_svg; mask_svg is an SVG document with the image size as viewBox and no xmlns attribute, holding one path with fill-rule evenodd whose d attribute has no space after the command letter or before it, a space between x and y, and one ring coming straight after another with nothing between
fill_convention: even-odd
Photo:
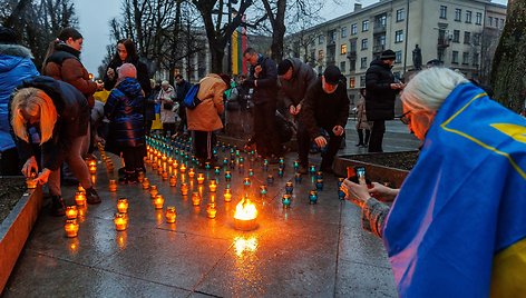
<instances>
[{"instance_id":1,"label":"man bending forward between the standing man and the black-capped man","mask_svg":"<svg viewBox=\"0 0 526 298\"><path fill-rule=\"evenodd\" d=\"M292 116L299 115L306 89L318 78L314 69L298 58L289 58L277 64L277 76L281 85L279 97L283 108Z\"/></svg>"}]
</instances>

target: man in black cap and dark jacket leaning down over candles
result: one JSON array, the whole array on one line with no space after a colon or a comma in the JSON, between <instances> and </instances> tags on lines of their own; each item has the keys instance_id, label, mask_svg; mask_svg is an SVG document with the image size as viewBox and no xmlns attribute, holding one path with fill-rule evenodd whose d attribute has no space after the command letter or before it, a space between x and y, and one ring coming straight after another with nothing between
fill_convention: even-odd
<instances>
[{"instance_id":1,"label":"man in black cap and dark jacket leaning down over candles","mask_svg":"<svg viewBox=\"0 0 526 298\"><path fill-rule=\"evenodd\" d=\"M340 69L329 66L323 76L306 90L298 128L301 173L306 173L311 140L320 148L327 147L322 153L320 170L332 172L332 161L340 148L349 117L349 97L340 77ZM323 137L322 129L329 133L329 141Z\"/></svg>"}]
</instances>

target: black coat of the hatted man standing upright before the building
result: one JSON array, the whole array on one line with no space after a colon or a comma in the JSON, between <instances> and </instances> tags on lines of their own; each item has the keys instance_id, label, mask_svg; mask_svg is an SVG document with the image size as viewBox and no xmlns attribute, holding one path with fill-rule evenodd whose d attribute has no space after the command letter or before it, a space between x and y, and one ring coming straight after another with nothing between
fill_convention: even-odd
<instances>
[{"instance_id":1,"label":"black coat of the hatted man standing upright before the building","mask_svg":"<svg viewBox=\"0 0 526 298\"><path fill-rule=\"evenodd\" d=\"M398 90L391 89L394 76L391 67L374 60L366 72L366 109L369 121L394 118L394 100Z\"/></svg>"}]
</instances>

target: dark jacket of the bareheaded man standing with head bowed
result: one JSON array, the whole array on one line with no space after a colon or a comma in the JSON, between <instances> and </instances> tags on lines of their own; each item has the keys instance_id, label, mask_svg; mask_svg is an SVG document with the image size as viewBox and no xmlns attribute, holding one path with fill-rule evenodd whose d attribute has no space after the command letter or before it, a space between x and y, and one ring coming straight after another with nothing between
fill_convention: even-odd
<instances>
[{"instance_id":1,"label":"dark jacket of the bareheaded man standing with head bowed","mask_svg":"<svg viewBox=\"0 0 526 298\"><path fill-rule=\"evenodd\" d=\"M257 78L255 77L256 66L262 67L262 71ZM251 66L249 72L250 79L244 82L244 86L254 88L254 95L252 97L254 105L275 102L277 98L277 69L275 62L260 54L256 66ZM254 81L257 82L254 83Z\"/></svg>"}]
</instances>

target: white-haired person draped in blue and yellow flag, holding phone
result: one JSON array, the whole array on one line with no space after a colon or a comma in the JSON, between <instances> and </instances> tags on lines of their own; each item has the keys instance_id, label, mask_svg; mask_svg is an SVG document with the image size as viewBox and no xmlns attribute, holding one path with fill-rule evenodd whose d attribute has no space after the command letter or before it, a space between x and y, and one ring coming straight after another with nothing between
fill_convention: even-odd
<instances>
[{"instance_id":1,"label":"white-haired person draped in blue and yellow flag, holding phone","mask_svg":"<svg viewBox=\"0 0 526 298\"><path fill-rule=\"evenodd\" d=\"M419 72L401 100L423 141L401 188L342 186L383 239L399 296L524 296L526 119L446 68Z\"/></svg>"}]
</instances>

